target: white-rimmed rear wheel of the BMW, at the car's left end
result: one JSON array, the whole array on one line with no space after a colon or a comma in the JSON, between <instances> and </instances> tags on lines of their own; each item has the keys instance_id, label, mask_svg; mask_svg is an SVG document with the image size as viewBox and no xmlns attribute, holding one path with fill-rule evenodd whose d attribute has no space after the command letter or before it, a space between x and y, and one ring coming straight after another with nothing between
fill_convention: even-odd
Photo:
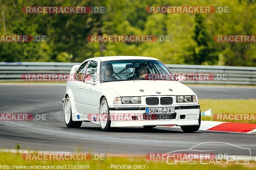
<instances>
[{"instance_id":1,"label":"white-rimmed rear wheel of the BMW, at the car's left end","mask_svg":"<svg viewBox=\"0 0 256 170\"><path fill-rule=\"evenodd\" d=\"M82 125L82 121L73 121L71 114L71 103L70 99L67 96L65 107L64 107L64 119L68 128L80 128Z\"/></svg>"}]
</instances>

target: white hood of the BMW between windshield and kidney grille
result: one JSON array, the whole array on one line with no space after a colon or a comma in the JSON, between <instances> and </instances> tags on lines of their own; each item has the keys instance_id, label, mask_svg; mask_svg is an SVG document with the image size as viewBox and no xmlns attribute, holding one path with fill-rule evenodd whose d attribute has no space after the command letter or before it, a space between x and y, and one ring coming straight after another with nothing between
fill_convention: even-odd
<instances>
[{"instance_id":1,"label":"white hood of the BMW between windshield and kidney grille","mask_svg":"<svg viewBox=\"0 0 256 170\"><path fill-rule=\"evenodd\" d=\"M104 82L102 85L117 92L121 97L125 96L162 96L162 95L194 95L194 92L186 85L178 81L167 80L130 80ZM172 89L170 91L169 89ZM141 92L140 90L144 90ZM159 94L156 92L160 92Z\"/></svg>"}]
</instances>

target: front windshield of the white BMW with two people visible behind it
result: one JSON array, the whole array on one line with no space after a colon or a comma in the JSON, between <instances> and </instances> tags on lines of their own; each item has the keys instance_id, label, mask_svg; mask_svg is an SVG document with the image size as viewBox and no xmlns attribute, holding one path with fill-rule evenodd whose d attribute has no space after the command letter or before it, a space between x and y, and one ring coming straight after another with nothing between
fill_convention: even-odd
<instances>
[{"instance_id":1,"label":"front windshield of the white BMW with two people visible behind it","mask_svg":"<svg viewBox=\"0 0 256 170\"><path fill-rule=\"evenodd\" d=\"M101 62L101 83L128 80L173 80L174 75L156 60L117 60Z\"/></svg>"}]
</instances>

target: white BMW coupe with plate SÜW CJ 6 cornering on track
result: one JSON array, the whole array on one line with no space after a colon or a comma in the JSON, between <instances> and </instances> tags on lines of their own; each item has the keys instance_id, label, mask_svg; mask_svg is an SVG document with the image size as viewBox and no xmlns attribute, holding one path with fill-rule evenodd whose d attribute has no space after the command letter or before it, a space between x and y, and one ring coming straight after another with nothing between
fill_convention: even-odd
<instances>
[{"instance_id":1,"label":"white BMW coupe with plate S\u00dcW CJ 6 cornering on track","mask_svg":"<svg viewBox=\"0 0 256 170\"><path fill-rule=\"evenodd\" d=\"M195 132L201 123L196 94L158 59L108 56L74 65L63 98L67 127L82 122L112 127L176 125Z\"/></svg>"}]
</instances>

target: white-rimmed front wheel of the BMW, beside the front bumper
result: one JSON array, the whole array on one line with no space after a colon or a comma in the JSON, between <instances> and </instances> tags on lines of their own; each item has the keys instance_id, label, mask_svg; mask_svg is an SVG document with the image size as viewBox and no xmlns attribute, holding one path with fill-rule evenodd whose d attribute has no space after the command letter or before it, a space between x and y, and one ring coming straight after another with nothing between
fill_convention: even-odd
<instances>
[{"instance_id":1,"label":"white-rimmed front wheel of the BMW, beside the front bumper","mask_svg":"<svg viewBox=\"0 0 256 170\"><path fill-rule=\"evenodd\" d=\"M110 125L111 125L111 120L110 120L110 115L109 115L109 110L108 110L108 101L106 97L103 97L103 99L100 102L100 128L102 131L109 131L110 130Z\"/></svg>"}]
</instances>

